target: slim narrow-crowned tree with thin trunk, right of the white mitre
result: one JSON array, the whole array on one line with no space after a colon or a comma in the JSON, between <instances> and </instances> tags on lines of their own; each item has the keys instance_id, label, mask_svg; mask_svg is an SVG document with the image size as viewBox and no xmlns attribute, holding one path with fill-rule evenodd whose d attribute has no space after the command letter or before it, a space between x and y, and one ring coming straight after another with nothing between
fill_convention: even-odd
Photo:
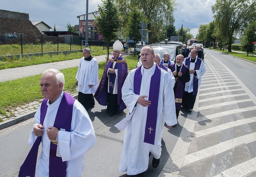
<instances>
[{"instance_id":1,"label":"slim narrow-crowned tree with thin trunk, right of the white mitre","mask_svg":"<svg viewBox=\"0 0 256 177\"><path fill-rule=\"evenodd\" d=\"M140 22L142 21L142 13L138 11L136 6L132 8L132 11L129 13L129 18L127 22L127 27L125 28L125 34L133 40L134 43L134 57L136 54L135 50L135 42L139 41L141 38L141 35L139 33L140 29Z\"/></svg>"}]
</instances>

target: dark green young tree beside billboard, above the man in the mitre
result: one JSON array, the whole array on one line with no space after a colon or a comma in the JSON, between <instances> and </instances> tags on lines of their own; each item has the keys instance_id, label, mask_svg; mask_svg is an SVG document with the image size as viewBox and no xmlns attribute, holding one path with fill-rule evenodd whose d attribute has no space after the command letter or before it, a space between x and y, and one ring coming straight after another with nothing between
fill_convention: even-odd
<instances>
[{"instance_id":1,"label":"dark green young tree beside billboard, above the man in the mitre","mask_svg":"<svg viewBox=\"0 0 256 177\"><path fill-rule=\"evenodd\" d=\"M117 38L122 19L112 0L102 0L102 2L102 6L98 5L100 16L95 16L95 26L98 33L103 35L103 41L107 43L109 57L109 43Z\"/></svg>"}]
</instances>

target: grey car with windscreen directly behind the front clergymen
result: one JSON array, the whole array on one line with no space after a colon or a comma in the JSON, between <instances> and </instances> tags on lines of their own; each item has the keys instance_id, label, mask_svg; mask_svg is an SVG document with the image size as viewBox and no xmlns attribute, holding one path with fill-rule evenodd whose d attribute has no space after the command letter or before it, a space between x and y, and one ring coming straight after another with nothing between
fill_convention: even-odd
<instances>
[{"instance_id":1,"label":"grey car with windscreen directly behind the front clergymen","mask_svg":"<svg viewBox=\"0 0 256 177\"><path fill-rule=\"evenodd\" d=\"M151 44L149 45L151 47L153 47L154 52L157 52L160 54L160 59L162 60L164 57L164 53L169 53L170 54L170 60L175 62L175 58L178 54L181 54L181 45L180 44ZM142 65L142 62L140 60L140 55L139 55L139 59L137 62L137 66L139 67L140 65Z\"/></svg>"}]
</instances>

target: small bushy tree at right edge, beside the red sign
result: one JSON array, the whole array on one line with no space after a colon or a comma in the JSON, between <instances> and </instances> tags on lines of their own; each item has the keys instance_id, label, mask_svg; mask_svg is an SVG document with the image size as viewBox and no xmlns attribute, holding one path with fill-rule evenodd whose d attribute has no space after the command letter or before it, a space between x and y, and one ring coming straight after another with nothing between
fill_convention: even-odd
<instances>
[{"instance_id":1,"label":"small bushy tree at right edge, beside the red sign","mask_svg":"<svg viewBox=\"0 0 256 177\"><path fill-rule=\"evenodd\" d=\"M252 21L248 28L244 30L244 35L241 38L241 47L247 52L247 56L249 51L253 51L252 42L256 41L256 20Z\"/></svg>"}]
</instances>

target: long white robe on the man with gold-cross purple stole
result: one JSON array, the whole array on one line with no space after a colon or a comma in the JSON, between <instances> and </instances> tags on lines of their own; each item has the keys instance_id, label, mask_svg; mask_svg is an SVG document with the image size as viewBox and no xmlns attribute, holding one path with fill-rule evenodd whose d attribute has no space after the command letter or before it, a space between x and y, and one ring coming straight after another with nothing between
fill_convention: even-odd
<instances>
[{"instance_id":1,"label":"long white robe on the man with gold-cross purple stole","mask_svg":"<svg viewBox=\"0 0 256 177\"><path fill-rule=\"evenodd\" d=\"M135 175L147 170L149 152L154 158L160 158L164 122L169 126L177 124L171 77L165 70L161 69L155 141L154 145L143 142L148 107L143 107L136 102L139 96L149 96L150 78L154 73L155 67L156 63L150 69L145 69L142 66L140 95L134 93L133 83L136 69L128 74L122 87L122 99L129 112L131 113L136 107L130 122L125 128L123 151L119 165L119 171L127 171L128 175ZM144 99L148 100L148 97Z\"/></svg>"}]
</instances>

